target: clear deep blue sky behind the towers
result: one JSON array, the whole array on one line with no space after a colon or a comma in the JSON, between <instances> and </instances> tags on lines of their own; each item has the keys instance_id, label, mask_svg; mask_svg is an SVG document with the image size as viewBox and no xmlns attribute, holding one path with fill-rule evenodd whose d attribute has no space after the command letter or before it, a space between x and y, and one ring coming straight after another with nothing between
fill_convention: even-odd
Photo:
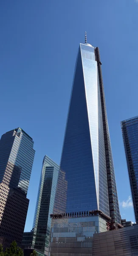
<instances>
[{"instance_id":1,"label":"clear deep blue sky behind the towers","mask_svg":"<svg viewBox=\"0 0 138 256\"><path fill-rule=\"evenodd\" d=\"M123 218L135 221L120 121L138 115L138 1L1 0L0 136L21 127L36 150L25 230L32 228L42 159L59 164L79 43L101 54Z\"/></svg>"}]
</instances>

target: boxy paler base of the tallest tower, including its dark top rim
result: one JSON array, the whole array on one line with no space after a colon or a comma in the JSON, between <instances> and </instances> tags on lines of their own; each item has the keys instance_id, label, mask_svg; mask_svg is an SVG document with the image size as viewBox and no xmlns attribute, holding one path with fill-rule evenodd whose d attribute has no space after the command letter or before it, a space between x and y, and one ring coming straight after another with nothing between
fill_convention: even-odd
<instances>
[{"instance_id":1,"label":"boxy paler base of the tallest tower, including its dark top rim","mask_svg":"<svg viewBox=\"0 0 138 256\"><path fill-rule=\"evenodd\" d=\"M51 218L48 256L91 256L93 235L111 227L111 218L98 210L51 214Z\"/></svg>"}]
</instances>

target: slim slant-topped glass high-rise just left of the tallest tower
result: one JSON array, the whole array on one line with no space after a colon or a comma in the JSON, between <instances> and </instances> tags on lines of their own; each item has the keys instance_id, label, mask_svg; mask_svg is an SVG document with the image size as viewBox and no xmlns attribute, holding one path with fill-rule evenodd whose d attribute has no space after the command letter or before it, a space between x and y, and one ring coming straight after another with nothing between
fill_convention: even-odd
<instances>
[{"instance_id":1,"label":"slim slant-topped glass high-rise just left of the tallest tower","mask_svg":"<svg viewBox=\"0 0 138 256\"><path fill-rule=\"evenodd\" d=\"M37 204L33 223L32 248L48 255L48 244L51 229L50 214L53 212L59 166L45 156L39 182ZM24 234L25 236L25 234Z\"/></svg>"}]
</instances>

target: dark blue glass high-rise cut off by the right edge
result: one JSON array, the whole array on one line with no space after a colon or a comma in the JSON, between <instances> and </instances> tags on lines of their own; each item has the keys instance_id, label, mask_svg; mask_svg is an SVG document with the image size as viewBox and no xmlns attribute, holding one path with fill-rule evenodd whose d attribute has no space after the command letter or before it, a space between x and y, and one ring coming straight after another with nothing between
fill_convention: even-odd
<instances>
[{"instance_id":1,"label":"dark blue glass high-rise cut off by the right edge","mask_svg":"<svg viewBox=\"0 0 138 256\"><path fill-rule=\"evenodd\" d=\"M130 177L135 220L138 224L138 116L122 121L121 129Z\"/></svg>"}]
</instances>

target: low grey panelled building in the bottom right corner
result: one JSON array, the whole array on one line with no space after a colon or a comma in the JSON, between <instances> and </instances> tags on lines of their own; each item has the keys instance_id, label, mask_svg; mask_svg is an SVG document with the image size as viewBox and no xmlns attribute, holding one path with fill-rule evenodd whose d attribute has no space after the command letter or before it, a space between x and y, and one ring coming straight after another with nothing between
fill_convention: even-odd
<instances>
[{"instance_id":1,"label":"low grey panelled building in the bottom right corner","mask_svg":"<svg viewBox=\"0 0 138 256\"><path fill-rule=\"evenodd\" d=\"M138 256L138 225L94 234L91 256Z\"/></svg>"}]
</instances>

